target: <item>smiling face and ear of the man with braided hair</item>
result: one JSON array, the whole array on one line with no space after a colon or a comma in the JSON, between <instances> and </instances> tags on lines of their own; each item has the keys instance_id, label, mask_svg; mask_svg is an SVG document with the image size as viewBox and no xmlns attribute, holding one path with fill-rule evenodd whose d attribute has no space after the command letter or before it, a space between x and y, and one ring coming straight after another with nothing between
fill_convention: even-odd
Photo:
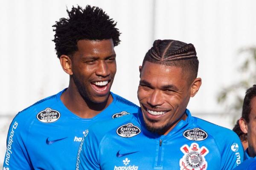
<instances>
[{"instance_id":1,"label":"smiling face and ear of the man with braided hair","mask_svg":"<svg viewBox=\"0 0 256 170\"><path fill-rule=\"evenodd\" d=\"M146 61L140 67L138 99L146 127L151 132L169 133L181 119L189 98L201 86L201 78L188 82L182 68Z\"/></svg>"}]
</instances>

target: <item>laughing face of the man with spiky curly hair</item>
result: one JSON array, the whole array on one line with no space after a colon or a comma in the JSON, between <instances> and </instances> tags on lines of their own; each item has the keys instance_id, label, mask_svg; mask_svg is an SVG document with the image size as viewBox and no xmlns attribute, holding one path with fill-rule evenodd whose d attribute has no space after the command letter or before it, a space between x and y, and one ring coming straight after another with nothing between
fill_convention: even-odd
<instances>
[{"instance_id":1,"label":"laughing face of the man with spiky curly hair","mask_svg":"<svg viewBox=\"0 0 256 170\"><path fill-rule=\"evenodd\" d=\"M79 40L77 46L71 57L73 83L85 101L103 103L116 74L113 40Z\"/></svg>"}]
</instances>

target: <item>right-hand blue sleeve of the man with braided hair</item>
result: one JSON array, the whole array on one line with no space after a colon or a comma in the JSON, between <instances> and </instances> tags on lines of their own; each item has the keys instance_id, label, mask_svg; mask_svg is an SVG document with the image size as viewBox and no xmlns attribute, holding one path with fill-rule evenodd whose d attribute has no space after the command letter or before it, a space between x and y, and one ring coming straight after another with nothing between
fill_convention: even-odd
<instances>
[{"instance_id":1,"label":"right-hand blue sleeve of the man with braided hair","mask_svg":"<svg viewBox=\"0 0 256 170\"><path fill-rule=\"evenodd\" d=\"M224 138L228 140L222 140L221 170L233 170L244 161L244 149L239 137L232 131Z\"/></svg>"}]
</instances>

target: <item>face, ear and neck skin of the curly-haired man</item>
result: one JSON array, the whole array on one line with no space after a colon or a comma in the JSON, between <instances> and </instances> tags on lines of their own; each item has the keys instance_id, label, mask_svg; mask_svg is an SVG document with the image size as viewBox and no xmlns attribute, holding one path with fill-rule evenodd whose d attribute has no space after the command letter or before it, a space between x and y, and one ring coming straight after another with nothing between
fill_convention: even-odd
<instances>
[{"instance_id":1,"label":"face, ear and neck skin of the curly-haired man","mask_svg":"<svg viewBox=\"0 0 256 170\"><path fill-rule=\"evenodd\" d=\"M110 88L116 74L113 40L79 40L72 56L61 55L63 70L70 75L61 101L81 118L92 118L113 101ZM101 84L100 84L101 83Z\"/></svg>"}]
</instances>

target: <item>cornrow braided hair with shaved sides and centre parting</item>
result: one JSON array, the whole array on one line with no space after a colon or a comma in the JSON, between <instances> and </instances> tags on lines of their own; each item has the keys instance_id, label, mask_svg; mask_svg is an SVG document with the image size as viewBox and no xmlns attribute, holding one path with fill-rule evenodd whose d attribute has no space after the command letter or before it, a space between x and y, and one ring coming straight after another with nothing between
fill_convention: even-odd
<instances>
[{"instance_id":1,"label":"cornrow braided hair with shaved sides and centre parting","mask_svg":"<svg viewBox=\"0 0 256 170\"><path fill-rule=\"evenodd\" d=\"M189 77L194 80L198 73L198 58L193 44L177 40L155 40L153 47L148 50L143 60L167 66L181 67Z\"/></svg>"}]
</instances>

